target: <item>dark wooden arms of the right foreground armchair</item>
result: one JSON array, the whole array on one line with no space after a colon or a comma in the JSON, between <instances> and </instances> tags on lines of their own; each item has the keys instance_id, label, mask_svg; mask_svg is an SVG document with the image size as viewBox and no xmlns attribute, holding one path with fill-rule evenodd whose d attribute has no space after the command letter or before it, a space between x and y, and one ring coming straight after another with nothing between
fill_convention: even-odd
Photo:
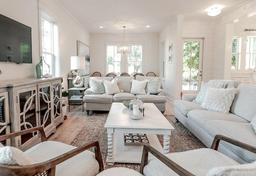
<instances>
[{"instance_id":1,"label":"dark wooden arms of the right foreground armchair","mask_svg":"<svg viewBox=\"0 0 256 176\"><path fill-rule=\"evenodd\" d=\"M248 144L234 140L232 138L228 138L223 135L216 135L214 137L211 149L218 150L220 140L224 140L226 142L229 142L230 144L233 144L235 146L238 146L238 147L248 150L250 152L256 153L256 147L250 146ZM144 147L143 147L141 164L140 164L140 173L141 174L143 174L143 168L148 164L148 152L153 154L156 158L158 158L160 161L162 161L164 164L166 164L166 166L171 168L178 175L180 175L180 176L195 176L194 174L192 174L191 172L182 168L180 165L176 164L174 161L170 160L169 158L164 156L164 154L160 153L158 150L154 149L152 146L150 146L148 144L144 145Z\"/></svg>"}]
</instances>

